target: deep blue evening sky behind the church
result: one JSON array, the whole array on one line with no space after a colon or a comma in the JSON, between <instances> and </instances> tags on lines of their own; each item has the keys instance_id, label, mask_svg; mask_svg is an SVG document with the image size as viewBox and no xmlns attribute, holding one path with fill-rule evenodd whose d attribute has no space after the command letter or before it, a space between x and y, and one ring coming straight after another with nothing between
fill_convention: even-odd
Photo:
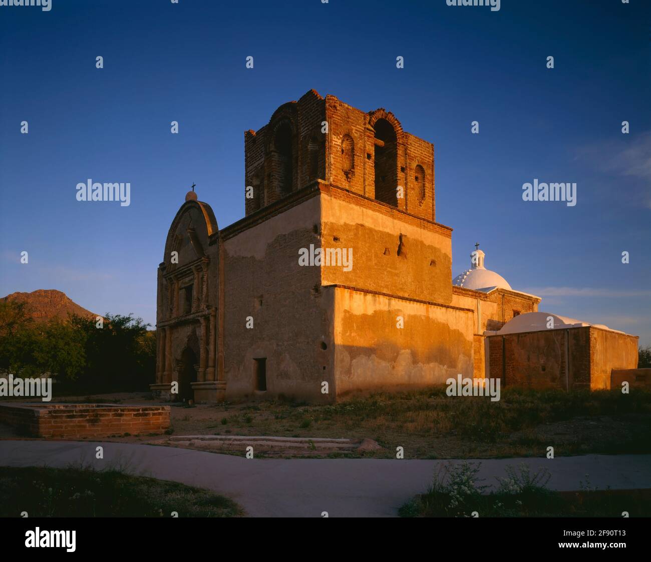
<instances>
[{"instance_id":1,"label":"deep blue evening sky behind the church","mask_svg":"<svg viewBox=\"0 0 651 562\"><path fill-rule=\"evenodd\" d=\"M156 268L189 186L220 228L243 217L243 131L314 88L385 107L434 142L453 276L478 241L540 310L648 345L650 14L646 0L0 7L0 296L59 289L154 323ZM88 178L130 182L130 206L78 202ZM577 183L577 204L523 201L534 178Z\"/></svg>"}]
</instances>

